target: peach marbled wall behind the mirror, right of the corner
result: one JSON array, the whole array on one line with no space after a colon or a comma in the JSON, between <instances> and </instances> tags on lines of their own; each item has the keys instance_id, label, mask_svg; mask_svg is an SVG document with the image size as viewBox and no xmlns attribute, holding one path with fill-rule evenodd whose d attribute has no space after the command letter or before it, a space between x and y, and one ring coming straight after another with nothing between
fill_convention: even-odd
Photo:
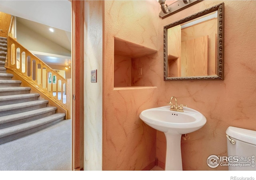
<instances>
[{"instance_id":1,"label":"peach marbled wall behind the mirror, right of the corner","mask_svg":"<svg viewBox=\"0 0 256 180\"><path fill-rule=\"evenodd\" d=\"M162 55L162 26L224 2L224 80L173 81L158 86L158 106L166 105L171 96L206 116L206 125L181 140L183 170L212 169L208 156L227 156L226 129L236 126L256 130L256 1L202 1L168 18L159 20L158 56ZM158 69L162 78L162 69ZM159 80L161 80L159 78ZM157 132L159 161L165 162L165 137Z\"/></svg>"}]
</instances>

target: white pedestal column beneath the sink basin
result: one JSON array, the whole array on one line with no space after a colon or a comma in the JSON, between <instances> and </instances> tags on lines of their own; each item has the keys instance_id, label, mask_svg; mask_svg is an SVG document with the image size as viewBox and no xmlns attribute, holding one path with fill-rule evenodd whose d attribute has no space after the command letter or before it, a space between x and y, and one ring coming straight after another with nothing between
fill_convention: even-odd
<instances>
[{"instance_id":1,"label":"white pedestal column beneath the sink basin","mask_svg":"<svg viewBox=\"0 0 256 180\"><path fill-rule=\"evenodd\" d=\"M165 170L182 170L181 159L181 134L164 132L166 137L166 160Z\"/></svg>"}]
</instances>

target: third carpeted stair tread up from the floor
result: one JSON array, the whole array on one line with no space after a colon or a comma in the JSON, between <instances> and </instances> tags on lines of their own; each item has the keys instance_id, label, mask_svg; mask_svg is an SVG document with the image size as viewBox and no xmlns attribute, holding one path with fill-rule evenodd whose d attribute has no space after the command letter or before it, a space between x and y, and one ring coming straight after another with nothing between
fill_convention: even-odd
<instances>
[{"instance_id":1,"label":"third carpeted stair tread up from the floor","mask_svg":"<svg viewBox=\"0 0 256 180\"><path fill-rule=\"evenodd\" d=\"M0 112L33 107L36 105L47 104L47 103L48 103L48 100L36 100L36 101L30 101L30 102L21 102L17 104L10 104L10 105L8 104L8 105L0 106Z\"/></svg>"}]
</instances>

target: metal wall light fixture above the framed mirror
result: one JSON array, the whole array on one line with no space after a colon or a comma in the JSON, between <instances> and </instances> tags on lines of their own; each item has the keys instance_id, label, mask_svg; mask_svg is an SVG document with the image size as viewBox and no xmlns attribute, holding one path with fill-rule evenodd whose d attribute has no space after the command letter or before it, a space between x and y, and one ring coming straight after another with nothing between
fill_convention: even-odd
<instances>
[{"instance_id":1,"label":"metal wall light fixture above the framed mirror","mask_svg":"<svg viewBox=\"0 0 256 180\"><path fill-rule=\"evenodd\" d=\"M161 6L161 12L159 13L160 18L164 19L171 14L174 14L176 12L179 12L185 8L188 8L189 6L192 6L193 4L196 4L198 2L201 2L202 0L177 0L170 4L169 6L165 4L165 0L157 0L158 3Z\"/></svg>"}]
</instances>

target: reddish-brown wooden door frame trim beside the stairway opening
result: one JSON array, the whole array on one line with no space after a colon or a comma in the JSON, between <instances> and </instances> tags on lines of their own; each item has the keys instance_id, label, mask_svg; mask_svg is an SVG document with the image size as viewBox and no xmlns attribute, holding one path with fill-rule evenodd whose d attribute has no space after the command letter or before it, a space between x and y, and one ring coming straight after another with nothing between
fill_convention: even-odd
<instances>
[{"instance_id":1,"label":"reddish-brown wooden door frame trim beside the stairway opening","mask_svg":"<svg viewBox=\"0 0 256 180\"><path fill-rule=\"evenodd\" d=\"M84 168L84 1L72 9L72 170Z\"/></svg>"}]
</instances>

